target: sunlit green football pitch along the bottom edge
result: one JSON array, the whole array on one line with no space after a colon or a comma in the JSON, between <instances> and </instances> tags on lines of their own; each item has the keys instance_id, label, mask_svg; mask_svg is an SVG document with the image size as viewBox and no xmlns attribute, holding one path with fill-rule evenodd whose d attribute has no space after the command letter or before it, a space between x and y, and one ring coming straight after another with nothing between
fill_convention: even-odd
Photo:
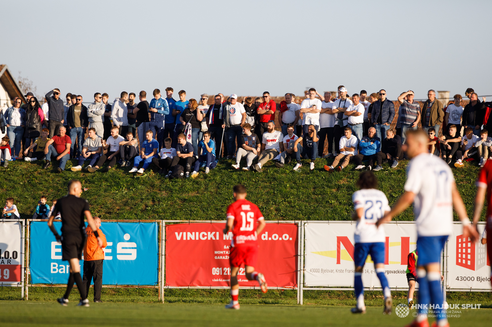
<instances>
[{"instance_id":1,"label":"sunlit green football pitch along the bottom edge","mask_svg":"<svg viewBox=\"0 0 492 327\"><path fill-rule=\"evenodd\" d=\"M0 301L0 326L406 326L413 319L384 316L382 307L368 307L367 314L353 315L349 306L242 305L240 310L223 304L92 303L67 307L57 302ZM492 309L459 310L451 326L490 326Z\"/></svg>"}]
</instances>

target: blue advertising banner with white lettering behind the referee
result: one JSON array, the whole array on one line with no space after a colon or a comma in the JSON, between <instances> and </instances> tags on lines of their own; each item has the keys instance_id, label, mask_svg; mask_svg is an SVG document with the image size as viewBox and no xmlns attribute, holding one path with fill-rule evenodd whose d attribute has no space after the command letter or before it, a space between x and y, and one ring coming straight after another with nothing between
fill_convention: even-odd
<instances>
[{"instance_id":1,"label":"blue advertising banner with white lettering behind the referee","mask_svg":"<svg viewBox=\"0 0 492 327\"><path fill-rule=\"evenodd\" d=\"M54 224L62 234L62 222ZM157 222L103 221L100 229L108 243L103 249L103 285L157 285ZM32 284L66 284L69 263L62 261L62 244L56 241L46 221L31 221L30 245ZM82 274L84 260L80 265Z\"/></svg>"}]
</instances>

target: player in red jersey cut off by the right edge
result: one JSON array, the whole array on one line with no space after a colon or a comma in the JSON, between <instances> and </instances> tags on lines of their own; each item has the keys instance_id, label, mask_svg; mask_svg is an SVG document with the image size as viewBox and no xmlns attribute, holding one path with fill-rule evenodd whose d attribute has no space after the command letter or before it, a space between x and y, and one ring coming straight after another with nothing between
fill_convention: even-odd
<instances>
[{"instance_id":1,"label":"player in red jersey cut off by the right edge","mask_svg":"<svg viewBox=\"0 0 492 327\"><path fill-rule=\"evenodd\" d=\"M477 195L475 196L475 206L473 208L473 225L477 228L477 222L480 220L482 209L484 207L485 193L487 192L487 225L485 230L488 235L492 235L492 160L487 160L480 170L477 180ZM477 230L478 232L478 230ZM482 241L483 244L483 241ZM492 242L487 242L487 253L489 258L492 255ZM492 271L491 271L492 284Z\"/></svg>"}]
</instances>

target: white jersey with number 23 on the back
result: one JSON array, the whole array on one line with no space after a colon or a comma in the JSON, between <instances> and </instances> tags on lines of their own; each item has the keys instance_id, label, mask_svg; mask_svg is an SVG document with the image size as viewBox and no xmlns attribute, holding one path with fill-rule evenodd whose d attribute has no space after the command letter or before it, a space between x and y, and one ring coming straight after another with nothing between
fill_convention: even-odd
<instances>
[{"instance_id":1,"label":"white jersey with number 23 on the back","mask_svg":"<svg viewBox=\"0 0 492 327\"><path fill-rule=\"evenodd\" d=\"M376 221L390 211L386 195L376 189L363 189L352 195L354 209L364 208L362 217L355 226L355 243L385 242L384 227L376 227Z\"/></svg>"}]
</instances>

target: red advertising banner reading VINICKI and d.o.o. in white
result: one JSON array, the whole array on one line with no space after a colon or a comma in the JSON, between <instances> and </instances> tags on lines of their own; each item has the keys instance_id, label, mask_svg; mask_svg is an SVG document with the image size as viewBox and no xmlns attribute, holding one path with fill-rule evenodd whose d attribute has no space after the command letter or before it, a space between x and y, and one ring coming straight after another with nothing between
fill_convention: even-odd
<instances>
[{"instance_id":1,"label":"red advertising banner reading VINICKI and d.o.o. in white","mask_svg":"<svg viewBox=\"0 0 492 327\"><path fill-rule=\"evenodd\" d=\"M224 222L166 225L165 286L229 286L229 251L232 232L224 235ZM255 270L269 287L297 287L298 226L269 223L258 235ZM240 286L258 286L239 269Z\"/></svg>"}]
</instances>

